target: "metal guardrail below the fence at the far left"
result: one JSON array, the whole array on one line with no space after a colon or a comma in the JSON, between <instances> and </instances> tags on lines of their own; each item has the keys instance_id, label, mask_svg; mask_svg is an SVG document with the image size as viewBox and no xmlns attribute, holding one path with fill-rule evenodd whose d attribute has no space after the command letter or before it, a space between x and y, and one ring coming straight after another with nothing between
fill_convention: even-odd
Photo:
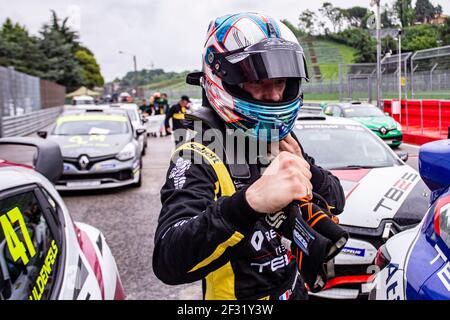
<instances>
[{"instance_id":1,"label":"metal guardrail below the fence at the far left","mask_svg":"<svg viewBox=\"0 0 450 320\"><path fill-rule=\"evenodd\" d=\"M20 116L3 117L0 137L20 137L34 133L54 122L62 109L62 106L53 107Z\"/></svg>"}]
</instances>

